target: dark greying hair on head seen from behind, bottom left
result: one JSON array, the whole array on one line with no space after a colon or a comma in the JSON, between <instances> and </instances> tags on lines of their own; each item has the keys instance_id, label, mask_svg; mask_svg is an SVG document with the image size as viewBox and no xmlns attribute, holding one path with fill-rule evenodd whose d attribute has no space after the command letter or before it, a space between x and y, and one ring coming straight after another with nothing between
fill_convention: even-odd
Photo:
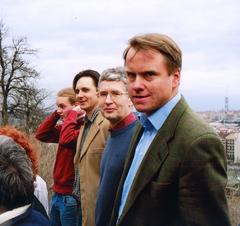
<instances>
[{"instance_id":1,"label":"dark greying hair on head seen from behind, bottom left","mask_svg":"<svg viewBox=\"0 0 240 226\"><path fill-rule=\"evenodd\" d=\"M33 199L33 172L25 150L0 135L0 207L11 210L30 204Z\"/></svg>"}]
</instances>

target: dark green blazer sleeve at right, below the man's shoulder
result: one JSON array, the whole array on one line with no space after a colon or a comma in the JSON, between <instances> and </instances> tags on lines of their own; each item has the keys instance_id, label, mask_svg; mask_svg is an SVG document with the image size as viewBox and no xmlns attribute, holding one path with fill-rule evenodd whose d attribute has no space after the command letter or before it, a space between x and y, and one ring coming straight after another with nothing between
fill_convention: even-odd
<instances>
[{"instance_id":1,"label":"dark green blazer sleeve at right, below the man's shoulder","mask_svg":"<svg viewBox=\"0 0 240 226\"><path fill-rule=\"evenodd\" d=\"M230 226L224 148L216 135L189 144L179 178L180 225Z\"/></svg>"}]
</instances>

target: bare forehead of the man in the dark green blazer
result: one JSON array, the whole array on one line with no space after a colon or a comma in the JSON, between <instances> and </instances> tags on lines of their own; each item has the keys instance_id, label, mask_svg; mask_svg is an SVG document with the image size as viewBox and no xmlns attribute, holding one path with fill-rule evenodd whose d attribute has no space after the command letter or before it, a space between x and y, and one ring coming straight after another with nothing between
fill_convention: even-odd
<instances>
[{"instance_id":1,"label":"bare forehead of the man in the dark green blazer","mask_svg":"<svg viewBox=\"0 0 240 226\"><path fill-rule=\"evenodd\" d=\"M130 48L127 53L125 70L147 71L159 66L166 67L166 60L157 50Z\"/></svg>"}]
</instances>

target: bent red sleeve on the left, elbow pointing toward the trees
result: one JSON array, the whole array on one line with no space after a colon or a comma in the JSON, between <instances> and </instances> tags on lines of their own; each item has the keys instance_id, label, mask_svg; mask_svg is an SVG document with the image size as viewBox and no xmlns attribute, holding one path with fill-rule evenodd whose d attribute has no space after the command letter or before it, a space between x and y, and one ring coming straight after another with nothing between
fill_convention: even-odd
<instances>
[{"instance_id":1,"label":"bent red sleeve on the left, elbow pointing toward the trees","mask_svg":"<svg viewBox=\"0 0 240 226\"><path fill-rule=\"evenodd\" d=\"M46 143L58 143L61 125L56 125L59 115L54 111L37 128L35 137Z\"/></svg>"}]
</instances>

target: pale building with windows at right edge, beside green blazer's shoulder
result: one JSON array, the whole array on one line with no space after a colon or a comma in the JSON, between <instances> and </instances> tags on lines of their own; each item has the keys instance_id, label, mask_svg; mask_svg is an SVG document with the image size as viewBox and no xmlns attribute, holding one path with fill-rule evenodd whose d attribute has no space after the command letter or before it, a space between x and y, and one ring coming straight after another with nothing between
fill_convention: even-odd
<instances>
[{"instance_id":1,"label":"pale building with windows at right edge, beside green blazer's shoulder","mask_svg":"<svg viewBox=\"0 0 240 226\"><path fill-rule=\"evenodd\" d=\"M226 151L227 161L230 163L240 162L240 132L233 132L222 138Z\"/></svg>"}]
</instances>

